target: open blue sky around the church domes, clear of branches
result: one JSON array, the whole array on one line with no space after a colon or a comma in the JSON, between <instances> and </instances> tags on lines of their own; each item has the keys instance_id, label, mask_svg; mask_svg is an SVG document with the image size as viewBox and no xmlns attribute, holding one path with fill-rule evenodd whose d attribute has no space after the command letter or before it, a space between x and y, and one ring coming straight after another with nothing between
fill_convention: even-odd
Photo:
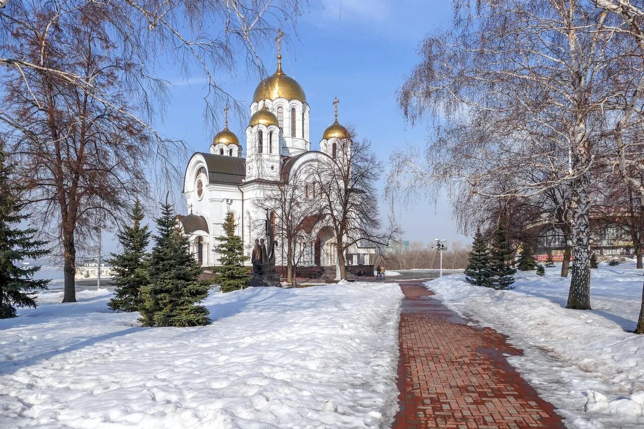
<instances>
[{"instance_id":1,"label":"open blue sky around the church domes, clear of branches","mask_svg":"<svg viewBox=\"0 0 644 429\"><path fill-rule=\"evenodd\" d=\"M283 46L282 63L284 72L307 94L313 148L319 148L324 129L333 121L334 97L340 99L340 122L353 123L359 137L372 140L373 149L385 162L396 146L406 142L423 145L426 125L412 128L404 120L395 91L418 62L417 47L424 35L449 26L451 16L450 1L312 0L310 13L298 22L299 39L291 36ZM261 53L269 73L276 66L274 45L270 43ZM178 75L167 79L182 80ZM238 77L226 77L220 84L243 106L249 106L258 81L242 66ZM191 82L173 89L168 117L160 128L167 137L183 138L194 151L207 151L213 136L202 115L204 88L199 76L193 76ZM231 117L229 123L243 146L247 120ZM383 186L384 178L379 189ZM185 204L177 205L178 212L185 213ZM388 204L383 200L381 214L387 212ZM471 241L457 234L444 199L436 205L419 201L413 207L396 207L395 216L405 240Z\"/></svg>"}]
</instances>

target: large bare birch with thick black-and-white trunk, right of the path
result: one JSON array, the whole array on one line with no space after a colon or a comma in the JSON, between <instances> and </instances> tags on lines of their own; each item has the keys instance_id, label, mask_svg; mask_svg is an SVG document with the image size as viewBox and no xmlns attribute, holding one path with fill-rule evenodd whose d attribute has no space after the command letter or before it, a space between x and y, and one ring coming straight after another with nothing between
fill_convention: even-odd
<instances>
[{"instance_id":1,"label":"large bare birch with thick black-and-white trunk, right of the path","mask_svg":"<svg viewBox=\"0 0 644 429\"><path fill-rule=\"evenodd\" d=\"M399 92L412 122L440 117L447 131L428 147L429 169L412 166L399 180L394 169L390 185L457 180L460 191L491 198L569 186L575 270L567 308L590 309L589 186L607 98L607 12L574 0L454 5L454 29L424 40L421 63ZM451 138L459 129L468 144ZM489 189L490 176L503 188Z\"/></svg>"}]
</instances>

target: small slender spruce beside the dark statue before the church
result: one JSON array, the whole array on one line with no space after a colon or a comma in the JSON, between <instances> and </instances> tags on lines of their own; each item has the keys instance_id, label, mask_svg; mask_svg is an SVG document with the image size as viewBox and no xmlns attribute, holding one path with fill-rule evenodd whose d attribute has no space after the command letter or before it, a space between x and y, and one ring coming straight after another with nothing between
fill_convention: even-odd
<instances>
[{"instance_id":1,"label":"small slender spruce beside the dark statue before the church","mask_svg":"<svg viewBox=\"0 0 644 429\"><path fill-rule=\"evenodd\" d=\"M223 235L215 237L220 242L214 250L222 255L217 267L219 276L217 281L222 287L222 292L231 292L243 289L247 280L251 280L249 269L243 266L247 256L243 254L242 237L235 234L235 221L232 213L227 213L223 220Z\"/></svg>"}]
</instances>

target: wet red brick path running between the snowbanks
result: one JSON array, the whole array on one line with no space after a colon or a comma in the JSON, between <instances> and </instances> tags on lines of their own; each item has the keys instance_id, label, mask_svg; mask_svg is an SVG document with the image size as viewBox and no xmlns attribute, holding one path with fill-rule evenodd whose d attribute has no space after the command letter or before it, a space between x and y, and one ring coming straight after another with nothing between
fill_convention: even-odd
<instances>
[{"instance_id":1,"label":"wet red brick path running between the snowbanks","mask_svg":"<svg viewBox=\"0 0 644 429\"><path fill-rule=\"evenodd\" d=\"M398 364L400 411L394 429L565 428L503 356L521 354L495 330L428 298L421 283L401 283Z\"/></svg>"}]
</instances>

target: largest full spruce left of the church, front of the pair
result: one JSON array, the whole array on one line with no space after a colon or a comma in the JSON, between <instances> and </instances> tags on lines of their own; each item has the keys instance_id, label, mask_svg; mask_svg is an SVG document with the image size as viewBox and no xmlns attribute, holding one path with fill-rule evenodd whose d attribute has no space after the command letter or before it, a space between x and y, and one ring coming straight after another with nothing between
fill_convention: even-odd
<instances>
[{"instance_id":1,"label":"largest full spruce left of the church, front of the pair","mask_svg":"<svg viewBox=\"0 0 644 429\"><path fill-rule=\"evenodd\" d=\"M139 321L147 327L207 325L209 311L197 304L208 296L209 286L198 280L201 267L167 200L155 222L158 235L147 262L149 284L142 288Z\"/></svg>"}]
</instances>

